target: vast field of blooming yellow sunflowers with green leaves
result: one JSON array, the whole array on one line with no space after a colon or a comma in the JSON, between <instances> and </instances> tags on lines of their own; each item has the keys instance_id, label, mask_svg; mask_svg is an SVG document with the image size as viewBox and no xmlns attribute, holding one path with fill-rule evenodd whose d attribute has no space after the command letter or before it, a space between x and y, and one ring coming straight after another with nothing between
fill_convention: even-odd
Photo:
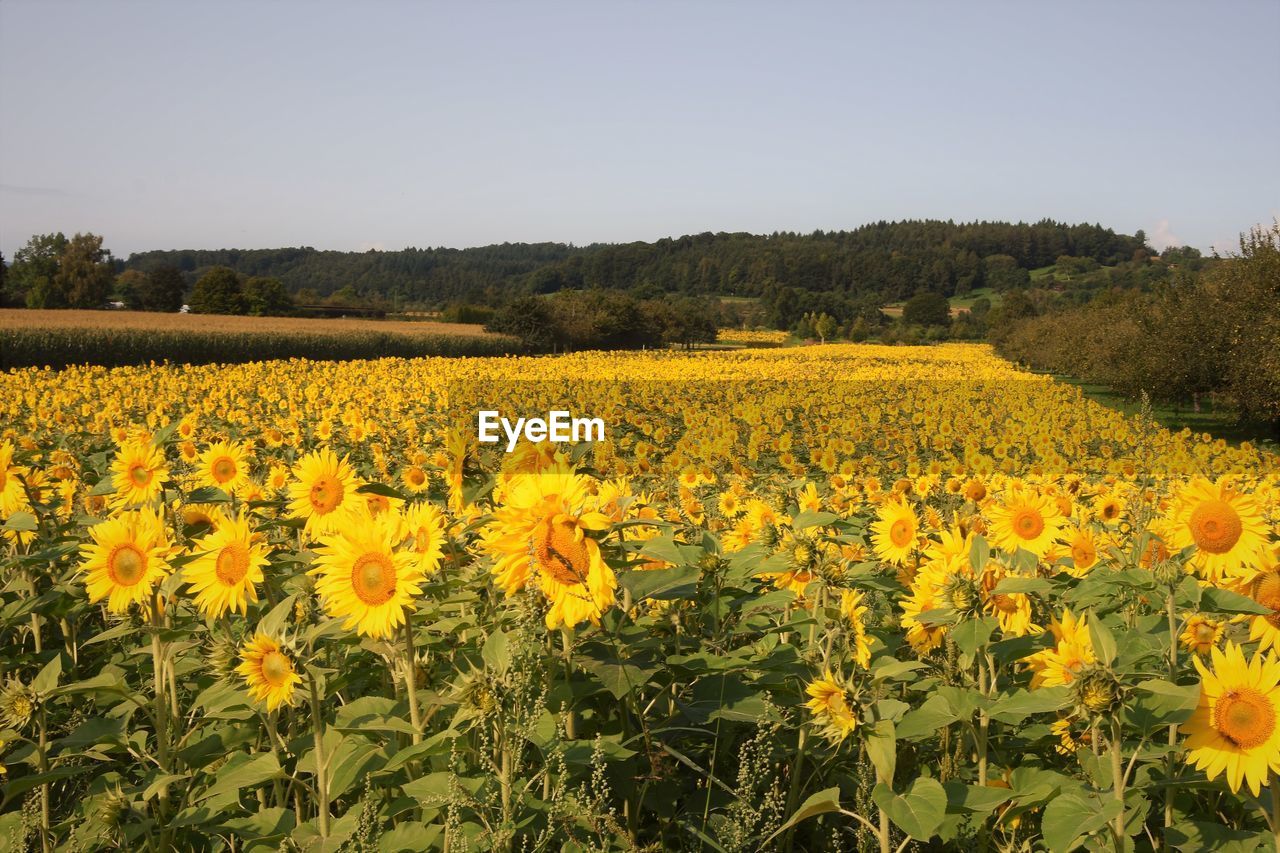
<instances>
[{"instance_id":1,"label":"vast field of blooming yellow sunflowers with green leaves","mask_svg":"<svg viewBox=\"0 0 1280 853\"><path fill-rule=\"evenodd\" d=\"M986 346L12 370L0 533L6 850L1280 848L1280 457Z\"/></svg>"}]
</instances>

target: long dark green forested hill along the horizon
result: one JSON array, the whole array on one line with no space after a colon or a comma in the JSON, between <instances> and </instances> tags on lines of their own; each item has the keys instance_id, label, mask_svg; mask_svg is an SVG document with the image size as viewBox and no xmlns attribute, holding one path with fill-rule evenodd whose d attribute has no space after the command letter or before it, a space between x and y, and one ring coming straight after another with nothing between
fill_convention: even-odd
<instances>
[{"instance_id":1,"label":"long dark green forested hill along the horizon","mask_svg":"<svg viewBox=\"0 0 1280 853\"><path fill-rule=\"evenodd\" d=\"M911 220L810 234L701 233L590 246L150 251L132 255L125 266L177 266L192 284L210 268L227 266L278 278L300 302L340 293L396 306L498 306L517 296L594 288L641 297L758 297L771 323L790 327L810 311L844 321L920 291L947 297L982 287L1002 291L1027 284L1030 270L1064 259L1115 268L1146 252L1140 232L1117 234L1097 224Z\"/></svg>"}]
</instances>

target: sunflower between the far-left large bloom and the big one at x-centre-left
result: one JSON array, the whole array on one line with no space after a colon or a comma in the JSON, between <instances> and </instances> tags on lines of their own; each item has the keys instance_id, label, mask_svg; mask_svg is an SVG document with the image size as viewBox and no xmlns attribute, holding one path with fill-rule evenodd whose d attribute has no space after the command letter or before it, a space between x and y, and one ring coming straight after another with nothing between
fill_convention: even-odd
<instances>
[{"instance_id":1,"label":"sunflower between the far-left large bloom and the big one at x-centre-left","mask_svg":"<svg viewBox=\"0 0 1280 853\"><path fill-rule=\"evenodd\" d=\"M228 610L247 613L250 602L257 601L253 584L262 583L268 548L253 542L244 511L236 519L220 519L212 533L196 540L193 551L207 552L183 570L187 592L196 597L200 612L214 619Z\"/></svg>"}]
</instances>

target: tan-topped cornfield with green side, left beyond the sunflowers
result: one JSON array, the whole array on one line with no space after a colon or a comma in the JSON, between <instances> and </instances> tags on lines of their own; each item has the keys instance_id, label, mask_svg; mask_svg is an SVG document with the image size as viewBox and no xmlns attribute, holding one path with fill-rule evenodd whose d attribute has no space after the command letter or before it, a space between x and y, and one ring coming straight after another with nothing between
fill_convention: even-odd
<instances>
[{"instance_id":1,"label":"tan-topped cornfield with green side, left beyond the sunflowers","mask_svg":"<svg viewBox=\"0 0 1280 853\"><path fill-rule=\"evenodd\" d=\"M0 369L492 356L518 348L512 338L454 323L0 310Z\"/></svg>"}]
</instances>

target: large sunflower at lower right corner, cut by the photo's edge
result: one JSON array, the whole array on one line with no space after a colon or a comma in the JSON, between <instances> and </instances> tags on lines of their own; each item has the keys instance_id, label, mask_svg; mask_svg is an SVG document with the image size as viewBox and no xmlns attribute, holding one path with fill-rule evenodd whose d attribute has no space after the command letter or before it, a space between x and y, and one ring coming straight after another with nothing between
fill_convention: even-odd
<instances>
[{"instance_id":1,"label":"large sunflower at lower right corner, cut by the photo's edge","mask_svg":"<svg viewBox=\"0 0 1280 853\"><path fill-rule=\"evenodd\" d=\"M1256 652L1248 661L1235 643L1212 649L1210 670L1197 657L1199 704L1181 725L1187 760L1210 779L1225 771L1231 792L1243 781L1257 797L1272 772L1280 772L1280 661Z\"/></svg>"}]
</instances>

